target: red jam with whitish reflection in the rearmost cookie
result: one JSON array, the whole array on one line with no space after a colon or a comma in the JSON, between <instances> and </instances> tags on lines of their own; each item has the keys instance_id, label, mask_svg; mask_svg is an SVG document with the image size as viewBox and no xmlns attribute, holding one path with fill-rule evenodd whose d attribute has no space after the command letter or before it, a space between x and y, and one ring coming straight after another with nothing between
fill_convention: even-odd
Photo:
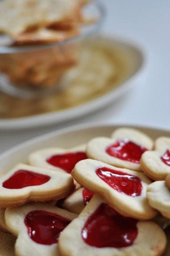
<instances>
[{"instance_id":1,"label":"red jam with whitish reflection in the rearmost cookie","mask_svg":"<svg viewBox=\"0 0 170 256\"><path fill-rule=\"evenodd\" d=\"M117 140L114 144L106 148L106 152L110 156L114 156L121 160L126 160L135 164L140 163L142 153L146 150L146 148L135 144L128 139Z\"/></svg>"}]
</instances>

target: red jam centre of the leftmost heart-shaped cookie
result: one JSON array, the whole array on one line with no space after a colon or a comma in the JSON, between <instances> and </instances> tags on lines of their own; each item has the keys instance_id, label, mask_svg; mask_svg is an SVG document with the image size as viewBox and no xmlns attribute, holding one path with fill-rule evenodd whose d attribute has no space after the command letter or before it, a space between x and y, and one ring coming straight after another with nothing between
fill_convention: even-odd
<instances>
[{"instance_id":1,"label":"red jam centre of the leftmost heart-shaped cookie","mask_svg":"<svg viewBox=\"0 0 170 256\"><path fill-rule=\"evenodd\" d=\"M20 189L29 186L42 185L48 180L50 180L50 176L48 175L27 170L18 170L14 172L8 180L5 180L2 185L4 188Z\"/></svg>"}]
</instances>

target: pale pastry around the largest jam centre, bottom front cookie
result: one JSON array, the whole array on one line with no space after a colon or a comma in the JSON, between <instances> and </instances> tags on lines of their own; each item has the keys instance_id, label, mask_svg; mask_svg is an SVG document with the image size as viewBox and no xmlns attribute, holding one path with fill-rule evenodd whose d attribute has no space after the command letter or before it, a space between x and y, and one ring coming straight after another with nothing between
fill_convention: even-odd
<instances>
[{"instance_id":1,"label":"pale pastry around the largest jam centre, bottom front cookie","mask_svg":"<svg viewBox=\"0 0 170 256\"><path fill-rule=\"evenodd\" d=\"M160 256L162 255L166 247L166 236L162 229L155 224L153 221L137 221L137 236L134 238L133 243L127 247L115 248L115 247L96 247L87 244L83 240L83 235L86 237L87 232L84 229L84 225L89 221L91 216L101 207L101 204L106 202L95 195L89 204L84 208L81 214L71 222L67 228L64 229L59 237L59 252L62 256ZM107 205L106 205L107 207ZM105 213L106 214L106 213ZM123 227L123 222L126 224L126 218L122 218L120 224ZM97 220L101 220L100 218ZM128 220L127 220L128 221ZM133 220L132 220L133 221ZM135 220L134 220L135 221ZM94 223L91 223L91 227ZM97 234L98 240L103 240L105 238L104 234L112 233L114 235L114 230L110 231L110 227L107 227L107 222L104 222L104 226L100 224L99 233ZM115 226L119 227L119 224ZM97 226L97 224L96 224ZM101 234L100 234L101 232ZM127 231L128 232L128 231ZM88 234L87 234L88 236ZM94 234L95 236L95 234ZM101 236L101 238L100 238ZM117 235L120 237L120 235ZM125 237L125 236L123 236ZM95 238L96 239L96 238ZM123 239L122 237L120 239ZM126 239L125 239L126 240ZM128 239L127 239L128 241ZM118 238L116 242L119 243Z\"/></svg>"}]
</instances>

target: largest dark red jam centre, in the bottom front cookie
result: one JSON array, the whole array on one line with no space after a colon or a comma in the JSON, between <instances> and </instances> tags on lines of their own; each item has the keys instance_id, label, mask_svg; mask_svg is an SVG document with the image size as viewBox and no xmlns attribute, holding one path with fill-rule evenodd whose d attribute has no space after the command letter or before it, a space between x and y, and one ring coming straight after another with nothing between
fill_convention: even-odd
<instances>
[{"instance_id":1,"label":"largest dark red jam centre, in the bottom front cookie","mask_svg":"<svg viewBox=\"0 0 170 256\"><path fill-rule=\"evenodd\" d=\"M86 244L98 248L123 248L133 244L138 235L138 220L121 216L107 204L100 204L87 219L82 238Z\"/></svg>"}]
</instances>

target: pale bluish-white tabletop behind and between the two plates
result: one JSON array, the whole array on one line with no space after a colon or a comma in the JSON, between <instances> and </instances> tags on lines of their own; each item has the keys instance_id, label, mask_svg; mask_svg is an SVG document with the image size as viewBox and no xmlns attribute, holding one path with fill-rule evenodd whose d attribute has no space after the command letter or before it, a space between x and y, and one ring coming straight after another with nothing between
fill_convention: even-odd
<instances>
[{"instance_id":1,"label":"pale bluish-white tabletop behind and between the two plates","mask_svg":"<svg viewBox=\"0 0 170 256\"><path fill-rule=\"evenodd\" d=\"M82 119L51 127L0 132L0 152L25 140L79 123L142 124L170 129L170 0L103 0L103 32L141 44L146 75L118 102Z\"/></svg>"}]
</instances>

